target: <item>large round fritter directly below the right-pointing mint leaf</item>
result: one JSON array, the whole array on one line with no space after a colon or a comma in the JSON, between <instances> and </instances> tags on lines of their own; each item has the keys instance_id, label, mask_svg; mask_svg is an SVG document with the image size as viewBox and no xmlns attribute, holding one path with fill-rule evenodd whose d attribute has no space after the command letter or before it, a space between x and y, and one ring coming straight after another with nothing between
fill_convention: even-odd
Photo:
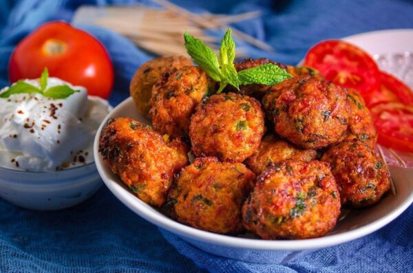
<instances>
[{"instance_id":1,"label":"large round fritter directly below the right-pointing mint leaf","mask_svg":"<svg viewBox=\"0 0 413 273\"><path fill-rule=\"evenodd\" d=\"M315 78L289 78L268 90L262 102L276 133L303 149L343 139L348 127L347 91Z\"/></svg>"}]
</instances>

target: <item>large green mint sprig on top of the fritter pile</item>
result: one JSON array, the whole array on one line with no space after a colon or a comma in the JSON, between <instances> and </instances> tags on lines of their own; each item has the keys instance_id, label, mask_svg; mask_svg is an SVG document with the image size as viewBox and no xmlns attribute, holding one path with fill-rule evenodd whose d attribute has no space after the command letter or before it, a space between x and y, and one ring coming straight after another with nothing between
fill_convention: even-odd
<instances>
[{"instance_id":1,"label":"large green mint sprig on top of the fritter pile","mask_svg":"<svg viewBox=\"0 0 413 273\"><path fill-rule=\"evenodd\" d=\"M184 33L184 41L187 52L193 61L198 63L213 80L220 83L217 94L220 94L226 85L232 85L240 90L240 85L250 85L253 83L275 85L287 78L293 77L284 69L272 63L237 72L233 64L235 60L235 42L231 36L231 28L226 30L221 41L219 59L211 47L187 32Z\"/></svg>"}]
</instances>

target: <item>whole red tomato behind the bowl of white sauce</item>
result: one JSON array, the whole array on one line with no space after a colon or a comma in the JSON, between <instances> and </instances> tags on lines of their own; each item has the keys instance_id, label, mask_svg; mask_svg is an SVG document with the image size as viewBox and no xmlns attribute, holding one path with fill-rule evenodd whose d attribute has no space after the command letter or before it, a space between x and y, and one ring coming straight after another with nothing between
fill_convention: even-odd
<instances>
[{"instance_id":1,"label":"whole red tomato behind the bowl of white sauce","mask_svg":"<svg viewBox=\"0 0 413 273\"><path fill-rule=\"evenodd\" d=\"M87 88L89 95L107 98L114 84L114 68L105 47L83 30L52 22L26 36L9 63L10 82L50 76Z\"/></svg>"}]
</instances>

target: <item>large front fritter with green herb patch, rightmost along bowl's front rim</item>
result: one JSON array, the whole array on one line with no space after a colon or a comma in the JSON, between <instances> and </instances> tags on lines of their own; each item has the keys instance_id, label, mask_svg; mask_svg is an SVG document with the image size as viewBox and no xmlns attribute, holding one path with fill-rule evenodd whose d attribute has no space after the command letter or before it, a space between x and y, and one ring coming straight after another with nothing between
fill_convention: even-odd
<instances>
[{"instance_id":1,"label":"large front fritter with green herb patch, rightmost along bowl's front rim","mask_svg":"<svg viewBox=\"0 0 413 273\"><path fill-rule=\"evenodd\" d=\"M263 239L321 237L339 214L337 184L319 161L286 160L267 168L242 207L245 228Z\"/></svg>"}]
</instances>

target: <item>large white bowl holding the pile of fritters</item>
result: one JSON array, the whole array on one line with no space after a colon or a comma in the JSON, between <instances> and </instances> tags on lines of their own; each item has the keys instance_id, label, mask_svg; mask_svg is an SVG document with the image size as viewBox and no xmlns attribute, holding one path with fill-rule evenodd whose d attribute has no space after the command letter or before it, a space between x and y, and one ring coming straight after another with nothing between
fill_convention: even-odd
<instances>
[{"instance_id":1,"label":"large white bowl holding the pile of fritters","mask_svg":"<svg viewBox=\"0 0 413 273\"><path fill-rule=\"evenodd\" d=\"M128 208L155 224L156 226L168 230L178 235L185 241L195 245L206 252L226 256L232 259L242 261L254 261L260 263L276 263L282 259L285 254L295 250L306 250L313 248L326 248L330 245L336 245L359 237L365 236L374 230L378 230L386 223L403 212L413 201L413 170L403 168L391 168L392 177L396 184L396 196L388 193L385 197L371 208L363 210L352 210L347 217L338 221L337 226L332 232L325 237L304 240L262 240L249 239L240 237L231 237L221 234L215 234L203 230L198 230L178 223L173 219L165 216L143 201L138 199L131 190L129 190L120 179L112 173L111 169L98 153L98 142L100 131L102 130L108 118L130 117L149 123L134 105L132 98L128 98L120 103L105 120L96 133L94 142L94 158L100 176L103 178L106 186L114 193L120 201Z\"/></svg>"}]
</instances>

